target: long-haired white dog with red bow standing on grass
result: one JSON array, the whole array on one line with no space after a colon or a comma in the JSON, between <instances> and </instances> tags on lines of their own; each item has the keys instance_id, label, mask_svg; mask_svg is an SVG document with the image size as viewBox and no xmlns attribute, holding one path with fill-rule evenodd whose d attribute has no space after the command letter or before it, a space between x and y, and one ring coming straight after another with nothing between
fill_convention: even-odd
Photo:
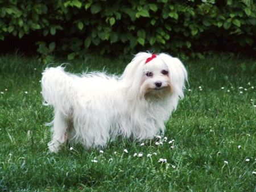
<instances>
[{"instance_id":1,"label":"long-haired white dog with red bow standing on grass","mask_svg":"<svg viewBox=\"0 0 256 192\"><path fill-rule=\"evenodd\" d=\"M165 53L138 53L121 77L47 68L44 105L55 111L49 150L59 151L68 139L90 148L103 147L118 135L143 140L164 132L164 123L184 97L186 80L181 61Z\"/></svg>"}]
</instances>

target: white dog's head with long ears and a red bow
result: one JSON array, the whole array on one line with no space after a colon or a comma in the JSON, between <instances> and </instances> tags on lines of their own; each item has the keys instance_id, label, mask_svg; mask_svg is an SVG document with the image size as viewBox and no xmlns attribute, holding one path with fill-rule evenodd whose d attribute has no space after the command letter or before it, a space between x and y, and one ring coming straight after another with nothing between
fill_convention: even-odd
<instances>
[{"instance_id":1,"label":"white dog's head with long ears and a red bow","mask_svg":"<svg viewBox=\"0 0 256 192\"><path fill-rule=\"evenodd\" d=\"M187 71L179 59L166 53L141 52L126 66L121 78L130 98L161 99L171 94L182 98Z\"/></svg>"}]
</instances>

